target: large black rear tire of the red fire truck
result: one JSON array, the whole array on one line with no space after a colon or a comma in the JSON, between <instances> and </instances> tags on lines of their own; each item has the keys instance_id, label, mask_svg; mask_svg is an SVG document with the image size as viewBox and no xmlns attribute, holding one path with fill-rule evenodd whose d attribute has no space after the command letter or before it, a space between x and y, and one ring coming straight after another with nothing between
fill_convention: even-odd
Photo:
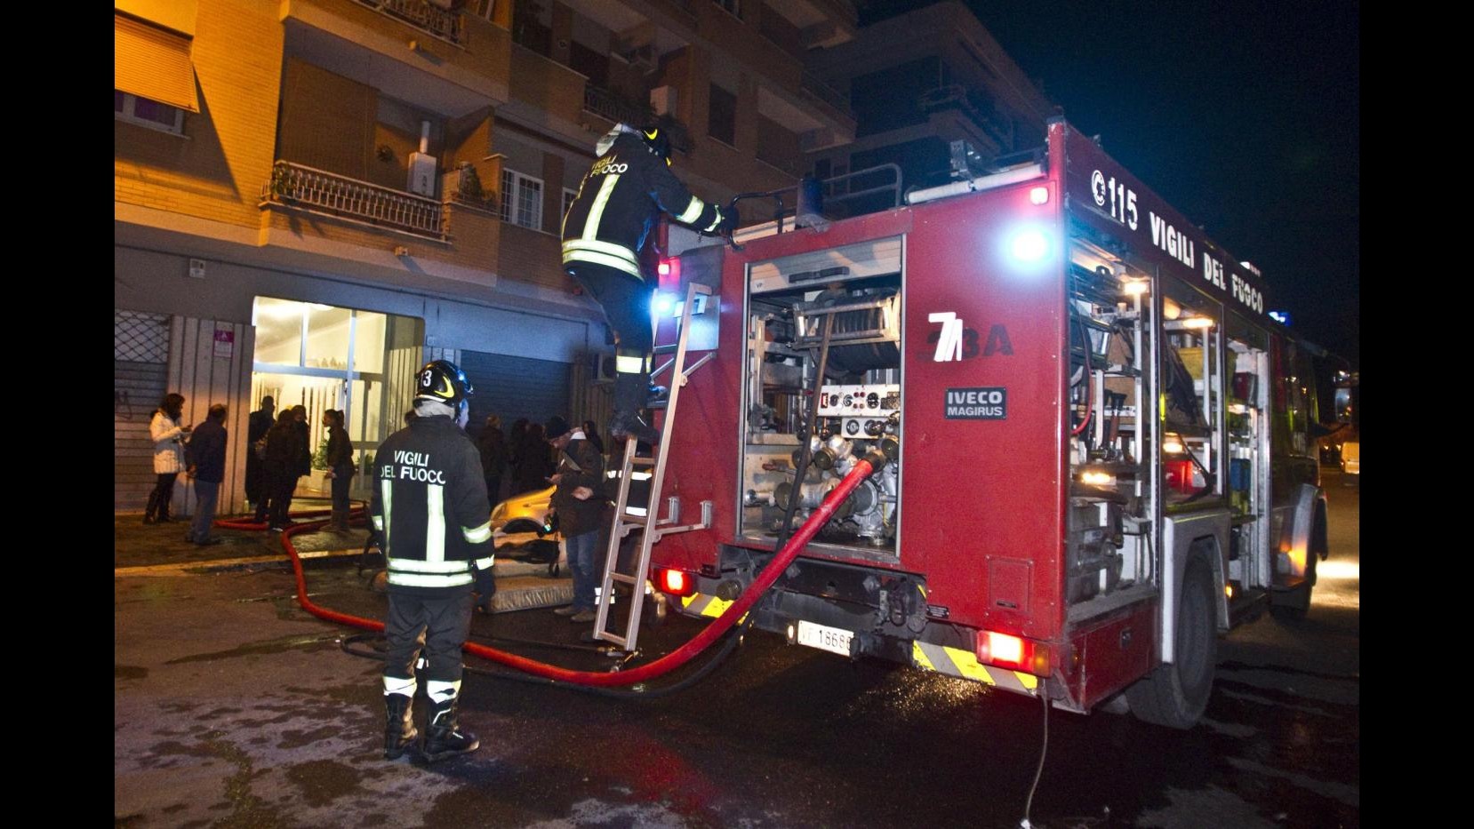
<instances>
[{"instance_id":1,"label":"large black rear tire of the red fire truck","mask_svg":"<svg viewBox=\"0 0 1474 829\"><path fill-rule=\"evenodd\" d=\"M1213 610L1213 568L1203 557L1188 560L1178 602L1176 661L1157 667L1126 689L1131 713L1172 729L1191 729L1213 694L1218 663L1218 621Z\"/></svg>"}]
</instances>

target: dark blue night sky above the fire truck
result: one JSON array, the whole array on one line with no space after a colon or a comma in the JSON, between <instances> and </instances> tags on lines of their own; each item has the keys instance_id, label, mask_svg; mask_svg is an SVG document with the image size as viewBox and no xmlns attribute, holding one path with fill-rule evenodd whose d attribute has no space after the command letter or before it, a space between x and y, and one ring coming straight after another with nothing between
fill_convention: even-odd
<instances>
[{"instance_id":1,"label":"dark blue night sky above the fire truck","mask_svg":"<svg viewBox=\"0 0 1474 829\"><path fill-rule=\"evenodd\" d=\"M864 1L861 22L927 3ZM965 3L1082 133L1359 361L1355 1Z\"/></svg>"}]
</instances>

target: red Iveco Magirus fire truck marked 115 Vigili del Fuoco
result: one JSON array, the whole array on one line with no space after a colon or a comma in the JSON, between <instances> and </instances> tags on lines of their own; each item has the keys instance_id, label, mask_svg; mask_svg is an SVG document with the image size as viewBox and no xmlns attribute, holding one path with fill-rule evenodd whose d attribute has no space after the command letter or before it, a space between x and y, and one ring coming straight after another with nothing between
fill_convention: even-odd
<instances>
[{"instance_id":1,"label":"red Iveco Magirus fire truck marked 115 Vigili del Fuoco","mask_svg":"<svg viewBox=\"0 0 1474 829\"><path fill-rule=\"evenodd\" d=\"M1309 353L1251 265L1064 121L1016 168L662 271L712 289L660 490L709 527L652 552L677 611L719 615L874 449L758 627L1190 727L1218 635L1307 610Z\"/></svg>"}]
</instances>

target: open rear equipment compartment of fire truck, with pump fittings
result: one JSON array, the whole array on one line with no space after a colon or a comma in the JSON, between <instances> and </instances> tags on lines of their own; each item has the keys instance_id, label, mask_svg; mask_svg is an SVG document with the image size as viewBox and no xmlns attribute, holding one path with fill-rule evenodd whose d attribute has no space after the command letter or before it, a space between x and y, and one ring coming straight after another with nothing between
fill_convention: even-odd
<instances>
[{"instance_id":1,"label":"open rear equipment compartment of fire truck, with pump fittings","mask_svg":"<svg viewBox=\"0 0 1474 829\"><path fill-rule=\"evenodd\" d=\"M898 561L901 240L755 262L747 287L740 536L771 545L792 498L796 524L858 458L880 449L890 462L840 505L811 548ZM811 461L796 480L815 390Z\"/></svg>"}]
</instances>

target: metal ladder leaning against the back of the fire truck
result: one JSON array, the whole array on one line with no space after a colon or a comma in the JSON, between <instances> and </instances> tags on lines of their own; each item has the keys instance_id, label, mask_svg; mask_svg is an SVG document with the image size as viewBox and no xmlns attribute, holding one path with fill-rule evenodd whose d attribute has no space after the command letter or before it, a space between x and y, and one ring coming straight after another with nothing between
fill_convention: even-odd
<instances>
[{"instance_id":1,"label":"metal ladder leaning against the back of the fire truck","mask_svg":"<svg viewBox=\"0 0 1474 829\"><path fill-rule=\"evenodd\" d=\"M594 617L594 638L603 639L606 642L613 642L625 652L634 652L635 642L640 638L640 614L644 610L644 589L646 579L650 573L650 546L662 537L674 533L684 533L690 530L705 530L712 526L712 502L702 502L702 520L697 524L681 524L681 499L669 498L666 499L666 515L659 517L660 512L660 489L665 483L665 461L668 454L666 446L671 445L671 430L675 424L675 408L681 399L681 387L685 386L685 378L691 375L697 368L706 365L709 359L716 356L716 352L706 352L700 359L697 359L690 368L685 367L685 345L687 336L691 331L691 308L696 306L697 296L710 296L710 286L703 286L691 283L685 289L685 305L681 309L680 322L680 339L674 345L656 346L654 353L671 353L675 356L666 361L660 368L650 373L650 377L659 377L668 368L674 367L671 373L671 392L665 403L665 420L660 424L660 445L654 446L654 456L641 456L635 454L637 440L634 437L625 439L625 458L624 465L619 471L619 496L615 499L615 518L613 526L609 533L609 546L604 551L604 579L598 588L598 611ZM631 508L629 504L629 483L637 474L635 470L641 467L654 467L654 473L650 476L650 496L646 501L646 508L643 514L635 511L638 508ZM619 546L625 536L632 530L644 530L640 539L640 555L635 560L634 574L618 573L619 565ZM609 608L615 601L615 583L629 585L629 618L625 621L624 636L606 630L609 623Z\"/></svg>"}]
</instances>

